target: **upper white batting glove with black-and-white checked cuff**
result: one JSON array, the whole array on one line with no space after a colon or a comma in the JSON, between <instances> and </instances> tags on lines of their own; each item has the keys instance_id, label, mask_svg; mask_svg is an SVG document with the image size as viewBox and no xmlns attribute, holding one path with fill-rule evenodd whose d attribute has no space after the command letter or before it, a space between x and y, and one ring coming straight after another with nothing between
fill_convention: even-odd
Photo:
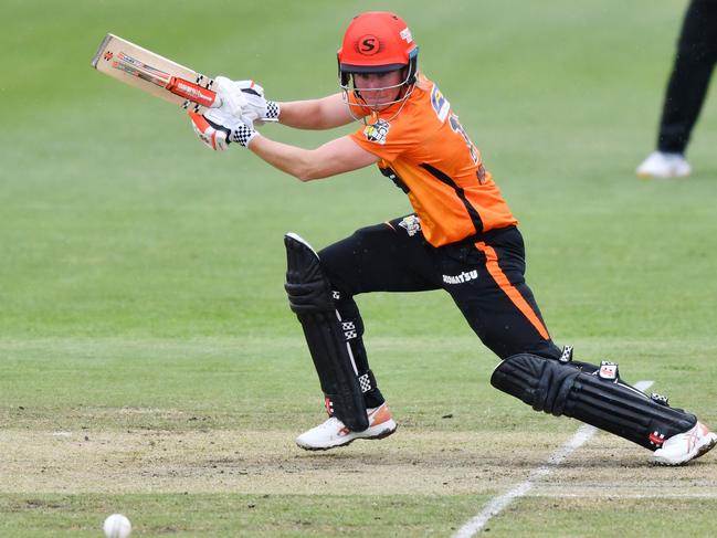
<instances>
[{"instance_id":1,"label":"upper white batting glove with black-and-white checked cuff","mask_svg":"<svg viewBox=\"0 0 717 538\"><path fill-rule=\"evenodd\" d=\"M266 101L264 88L254 81L232 81L218 76L214 78L214 89L221 99L220 110L257 125L278 118L278 104Z\"/></svg>"}]
</instances>

